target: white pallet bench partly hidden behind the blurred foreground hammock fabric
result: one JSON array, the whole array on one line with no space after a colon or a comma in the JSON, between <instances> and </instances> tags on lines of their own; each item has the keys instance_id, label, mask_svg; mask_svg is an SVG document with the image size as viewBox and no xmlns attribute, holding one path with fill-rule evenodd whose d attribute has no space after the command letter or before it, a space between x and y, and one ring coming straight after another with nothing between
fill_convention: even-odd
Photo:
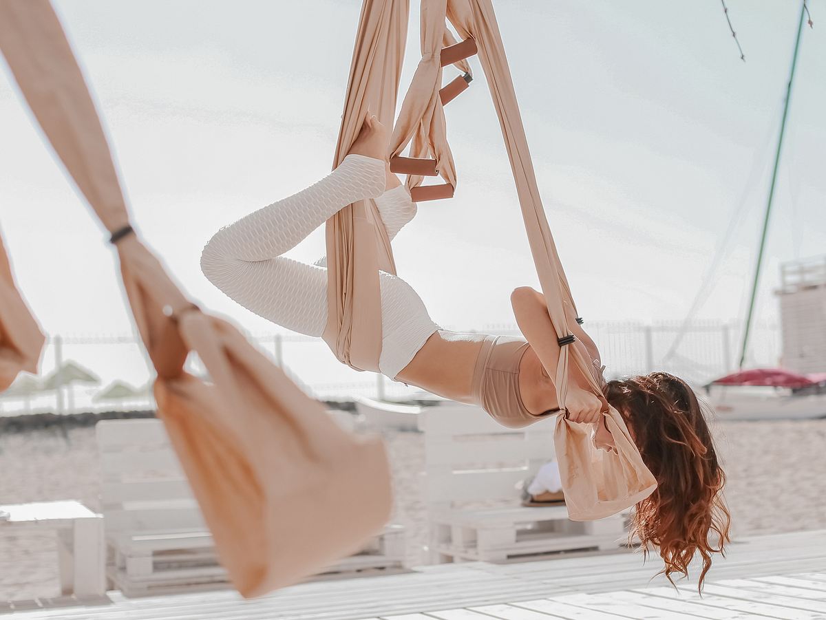
<instances>
[{"instance_id":1,"label":"white pallet bench partly hidden behind the blurred foreground hammock fabric","mask_svg":"<svg viewBox=\"0 0 826 620\"><path fill-rule=\"evenodd\" d=\"M104 420L97 423L96 432L112 585L127 596L228 587L211 533L163 423ZM358 554L320 575L399 570L404 547L403 529L388 526Z\"/></svg>"}]
</instances>

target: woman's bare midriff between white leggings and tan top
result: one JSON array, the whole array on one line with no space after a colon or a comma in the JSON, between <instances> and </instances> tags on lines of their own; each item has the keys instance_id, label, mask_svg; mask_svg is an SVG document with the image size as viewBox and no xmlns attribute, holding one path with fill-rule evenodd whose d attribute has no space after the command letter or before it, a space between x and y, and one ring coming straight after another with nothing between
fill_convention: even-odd
<instances>
[{"instance_id":1,"label":"woman's bare midriff between white leggings and tan top","mask_svg":"<svg viewBox=\"0 0 826 620\"><path fill-rule=\"evenodd\" d=\"M439 329L396 375L396 380L450 400L472 403L473 371L484 339L485 334Z\"/></svg>"}]
</instances>

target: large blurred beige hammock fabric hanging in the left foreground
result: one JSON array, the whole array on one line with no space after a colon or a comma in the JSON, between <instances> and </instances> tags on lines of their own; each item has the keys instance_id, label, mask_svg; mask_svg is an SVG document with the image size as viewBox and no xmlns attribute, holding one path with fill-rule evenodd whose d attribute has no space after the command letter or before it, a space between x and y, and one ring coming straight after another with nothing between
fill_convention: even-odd
<instances>
[{"instance_id":1,"label":"large blurred beige hammock fabric hanging in the left foreground","mask_svg":"<svg viewBox=\"0 0 826 620\"><path fill-rule=\"evenodd\" d=\"M159 418L235 588L265 594L358 551L390 514L382 444L345 433L235 327L188 301L131 232L97 112L47 0L0 0L0 50L55 153L112 233L158 375ZM9 282L0 263L3 346L33 352L36 334ZM211 383L183 370L189 352ZM30 369L31 355L21 354L18 365Z\"/></svg>"}]
</instances>

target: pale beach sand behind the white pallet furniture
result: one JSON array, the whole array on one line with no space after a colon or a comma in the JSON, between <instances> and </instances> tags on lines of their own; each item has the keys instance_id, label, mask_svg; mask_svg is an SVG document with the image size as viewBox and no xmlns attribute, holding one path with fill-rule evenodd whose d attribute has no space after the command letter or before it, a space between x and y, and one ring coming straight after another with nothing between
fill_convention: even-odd
<instances>
[{"instance_id":1,"label":"pale beach sand behind the white pallet furniture","mask_svg":"<svg viewBox=\"0 0 826 620\"><path fill-rule=\"evenodd\" d=\"M735 536L826 528L826 420L719 423L714 433L729 476L726 496ZM392 433L387 446L396 490L394 522L406 528L407 561L414 566L425 543L422 436ZM78 499L97 509L99 486L93 428L0 437L0 504ZM53 536L12 534L0 527L0 599L57 594Z\"/></svg>"}]
</instances>

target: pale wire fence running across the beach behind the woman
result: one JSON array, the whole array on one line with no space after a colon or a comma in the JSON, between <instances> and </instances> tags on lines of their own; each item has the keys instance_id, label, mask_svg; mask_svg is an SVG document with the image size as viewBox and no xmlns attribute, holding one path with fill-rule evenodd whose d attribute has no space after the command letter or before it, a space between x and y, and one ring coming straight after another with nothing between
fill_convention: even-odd
<instances>
[{"instance_id":1,"label":"pale wire fence running across the beach behind the woman","mask_svg":"<svg viewBox=\"0 0 826 620\"><path fill-rule=\"evenodd\" d=\"M695 385L733 370L742 329L735 321L694 322L685 330L676 321L652 324L589 321L586 327L600 348L609 379L665 370ZM519 333L515 324L491 324L476 331ZM672 352L672 343L681 333L680 345ZM752 365L776 365L781 353L779 327L772 323L757 324L752 334ZM401 400L415 397L416 390L401 383L373 373L355 372L340 364L320 338L282 333L248 335L264 354L284 367L316 398L352 400L354 396L364 396ZM67 365L85 369L89 381L73 379L72 368L64 372L66 376L62 379L56 369L66 369ZM194 356L188 361L188 367L196 374L205 372ZM53 335L42 357L40 376L24 376L19 384L0 395L0 416L154 409L148 369L142 345L134 336ZM116 386L116 383L126 386Z\"/></svg>"}]
</instances>

